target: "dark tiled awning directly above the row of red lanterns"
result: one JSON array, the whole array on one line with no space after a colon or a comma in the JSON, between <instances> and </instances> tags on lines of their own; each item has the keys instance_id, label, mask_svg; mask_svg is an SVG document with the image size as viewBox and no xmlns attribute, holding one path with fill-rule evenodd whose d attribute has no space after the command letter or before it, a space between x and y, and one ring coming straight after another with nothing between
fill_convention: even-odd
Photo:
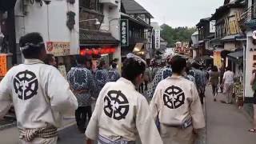
<instances>
[{"instance_id":1,"label":"dark tiled awning directly above the row of red lanterns","mask_svg":"<svg viewBox=\"0 0 256 144\"><path fill-rule=\"evenodd\" d=\"M110 33L98 30L79 30L80 46L118 45L119 41Z\"/></svg>"}]
</instances>

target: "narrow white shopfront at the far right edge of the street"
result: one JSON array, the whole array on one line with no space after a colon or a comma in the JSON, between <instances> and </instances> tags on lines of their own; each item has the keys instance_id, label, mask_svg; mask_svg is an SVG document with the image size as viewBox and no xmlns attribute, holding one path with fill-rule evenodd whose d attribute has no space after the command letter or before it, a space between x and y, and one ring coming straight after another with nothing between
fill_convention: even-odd
<instances>
[{"instance_id":1,"label":"narrow white shopfront at the far right edge of the street","mask_svg":"<svg viewBox=\"0 0 256 144\"><path fill-rule=\"evenodd\" d=\"M250 79L256 70L256 1L248 0L247 4L248 8L241 15L239 24L246 34L246 46L242 54L244 97L246 103L253 103L254 91L250 86Z\"/></svg>"}]
</instances>

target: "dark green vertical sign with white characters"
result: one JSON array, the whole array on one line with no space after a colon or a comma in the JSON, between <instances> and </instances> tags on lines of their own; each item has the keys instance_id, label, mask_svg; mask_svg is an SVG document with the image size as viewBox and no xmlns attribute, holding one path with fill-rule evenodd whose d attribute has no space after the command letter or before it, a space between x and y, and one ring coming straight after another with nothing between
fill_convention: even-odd
<instances>
[{"instance_id":1,"label":"dark green vertical sign with white characters","mask_svg":"<svg viewBox=\"0 0 256 144\"><path fill-rule=\"evenodd\" d=\"M121 19L121 46L129 46L129 22L128 19Z\"/></svg>"}]
</instances>

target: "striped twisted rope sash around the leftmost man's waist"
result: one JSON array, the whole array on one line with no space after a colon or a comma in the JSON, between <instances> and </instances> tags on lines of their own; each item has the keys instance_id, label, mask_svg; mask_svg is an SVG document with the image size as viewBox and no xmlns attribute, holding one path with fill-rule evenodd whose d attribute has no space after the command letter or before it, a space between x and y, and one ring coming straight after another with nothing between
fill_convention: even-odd
<instances>
[{"instance_id":1,"label":"striped twisted rope sash around the leftmost man's waist","mask_svg":"<svg viewBox=\"0 0 256 144\"><path fill-rule=\"evenodd\" d=\"M57 128L54 126L38 129L19 129L19 138L31 142L34 138L54 138L58 136Z\"/></svg>"}]
</instances>

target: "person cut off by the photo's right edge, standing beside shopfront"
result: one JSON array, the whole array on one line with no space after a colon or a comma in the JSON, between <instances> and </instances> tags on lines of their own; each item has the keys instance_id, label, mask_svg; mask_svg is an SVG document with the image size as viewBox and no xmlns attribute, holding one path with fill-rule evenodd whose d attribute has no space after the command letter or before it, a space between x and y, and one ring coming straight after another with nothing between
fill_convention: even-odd
<instances>
[{"instance_id":1,"label":"person cut off by the photo's right edge, standing beside shopfront","mask_svg":"<svg viewBox=\"0 0 256 144\"><path fill-rule=\"evenodd\" d=\"M252 133L256 133L256 71L253 72L252 78L250 79L250 85L254 90L254 128L249 131Z\"/></svg>"}]
</instances>

